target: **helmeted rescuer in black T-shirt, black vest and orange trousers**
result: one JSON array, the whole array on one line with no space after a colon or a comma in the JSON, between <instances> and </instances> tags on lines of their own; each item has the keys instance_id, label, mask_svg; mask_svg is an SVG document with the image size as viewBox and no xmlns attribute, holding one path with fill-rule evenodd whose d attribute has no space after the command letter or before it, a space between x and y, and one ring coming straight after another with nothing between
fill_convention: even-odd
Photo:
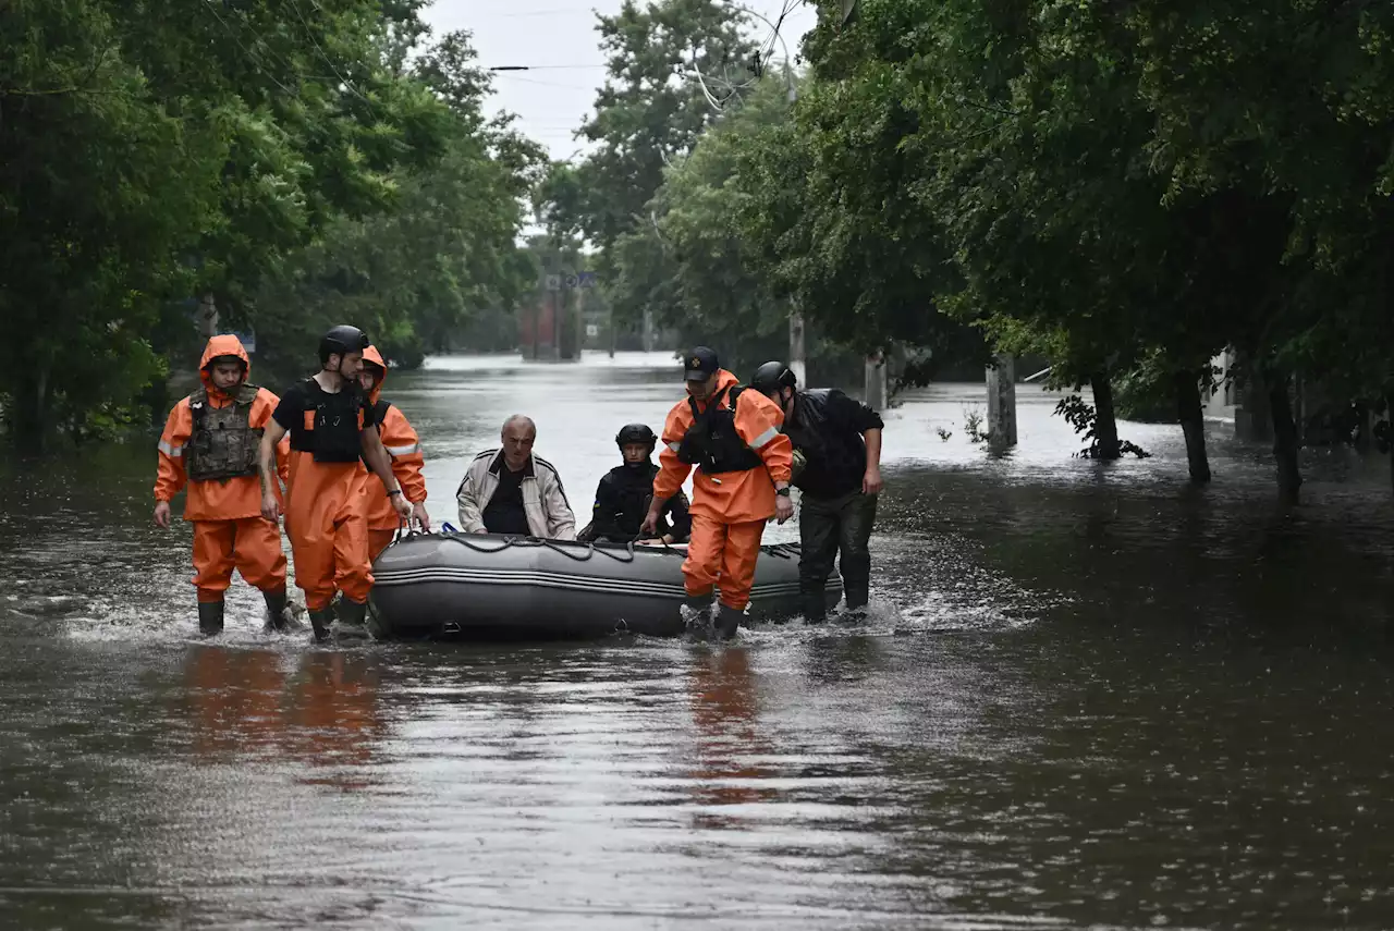
<instances>
[{"instance_id":1,"label":"helmeted rescuer in black T-shirt, black vest and orange trousers","mask_svg":"<svg viewBox=\"0 0 1394 931\"><path fill-rule=\"evenodd\" d=\"M290 470L286 486L286 534L296 559L296 585L305 592L305 608L315 640L328 640L335 627L329 606L335 591L344 594L339 633L367 633L368 563L367 478L360 457L382 481L393 510L411 520L407 503L392 474L392 459L372 421L372 406L358 383L368 337L355 326L336 326L319 340L319 371L293 385L280 399L261 445L262 514L280 517L272 471L276 443L290 433Z\"/></svg>"}]
</instances>

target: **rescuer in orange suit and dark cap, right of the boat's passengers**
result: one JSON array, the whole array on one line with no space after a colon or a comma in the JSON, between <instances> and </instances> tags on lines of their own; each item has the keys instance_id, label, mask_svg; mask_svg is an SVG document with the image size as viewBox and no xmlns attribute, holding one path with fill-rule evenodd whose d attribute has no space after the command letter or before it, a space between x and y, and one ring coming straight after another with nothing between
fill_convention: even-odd
<instances>
[{"instance_id":1,"label":"rescuer in orange suit and dark cap, right of the boat's passengers","mask_svg":"<svg viewBox=\"0 0 1394 931\"><path fill-rule=\"evenodd\" d=\"M783 411L760 392L746 390L721 368L714 350L694 348L684 360L687 400L668 413L658 456L654 500L640 532L652 534L664 505L683 486L693 466L691 542L683 560L687 606L711 608L721 583L717 633L736 636L750 603L756 557L765 521L793 516L789 470L793 447L779 432Z\"/></svg>"}]
</instances>

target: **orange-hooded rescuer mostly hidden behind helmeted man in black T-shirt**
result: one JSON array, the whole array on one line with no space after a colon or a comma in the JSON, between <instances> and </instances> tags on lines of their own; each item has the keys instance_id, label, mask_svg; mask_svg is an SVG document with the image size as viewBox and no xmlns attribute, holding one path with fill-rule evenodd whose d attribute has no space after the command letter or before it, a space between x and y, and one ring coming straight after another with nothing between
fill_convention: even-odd
<instances>
[{"instance_id":1,"label":"orange-hooded rescuer mostly hidden behind helmeted man in black T-shirt","mask_svg":"<svg viewBox=\"0 0 1394 931\"><path fill-rule=\"evenodd\" d=\"M421 524L421 530L431 532L431 514L427 513L427 479L421 477L421 440L417 431L411 428L407 415L395 404L382 400L382 383L388 379L388 364L376 347L369 346L362 351L362 371L358 372L358 383L368 392L368 403L372 404L372 422L378 425L378 436L382 438L382 447L392 457L392 474L401 485L401 493L411 503L411 514ZM368 496L368 562L378 559L378 553L388 548L401 518L392 509L392 502L382 491L379 482L369 482L368 470L358 467L364 479L362 493Z\"/></svg>"}]
</instances>

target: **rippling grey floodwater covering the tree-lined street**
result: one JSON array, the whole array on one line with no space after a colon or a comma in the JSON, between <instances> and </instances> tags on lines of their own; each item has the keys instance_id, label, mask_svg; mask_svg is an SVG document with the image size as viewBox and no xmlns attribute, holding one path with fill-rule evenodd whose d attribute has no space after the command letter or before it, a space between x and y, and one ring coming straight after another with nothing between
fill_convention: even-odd
<instances>
[{"instance_id":1,"label":"rippling grey floodwater covering the tree-lined street","mask_svg":"<svg viewBox=\"0 0 1394 931\"><path fill-rule=\"evenodd\" d=\"M584 511L661 355L389 378L435 518L531 414ZM1274 503L1221 439L1185 482L965 438L979 386L887 413L863 624L735 645L194 636L153 442L0 471L0 927L1390 928L1387 464ZM941 439L938 428L952 435ZM790 538L793 527L771 532Z\"/></svg>"}]
</instances>

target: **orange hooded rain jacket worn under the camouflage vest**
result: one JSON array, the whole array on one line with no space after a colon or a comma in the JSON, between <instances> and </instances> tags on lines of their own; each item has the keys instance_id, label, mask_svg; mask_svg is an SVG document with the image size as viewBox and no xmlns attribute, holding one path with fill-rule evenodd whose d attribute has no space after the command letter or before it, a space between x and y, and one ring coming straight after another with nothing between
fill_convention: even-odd
<instances>
[{"instance_id":1,"label":"orange hooded rain jacket worn under the camouflage vest","mask_svg":"<svg viewBox=\"0 0 1394 931\"><path fill-rule=\"evenodd\" d=\"M198 362L198 375L208 390L208 403L213 407L227 407L233 399L213 387L209 375L209 362L219 355L236 355L247 365L247 378L251 376L252 364L243 348L243 341L236 336L215 336L204 347L204 357ZM245 378L244 378L245 380ZM270 421L276 404L280 403L275 394L265 387L258 389L256 400L252 401L251 426L266 426ZM184 471L184 452L190 436L194 432L194 413L190 410L185 397L164 421L164 432L160 435L159 475L155 479L155 500L174 500L174 496L190 485L188 498L184 502L184 520L243 520L247 517L261 517L261 479L256 475L243 475L223 481L188 482ZM276 463L282 481L286 479L287 461L290 456L290 440L283 439L276 447ZM280 489L276 489L277 498Z\"/></svg>"}]
</instances>

